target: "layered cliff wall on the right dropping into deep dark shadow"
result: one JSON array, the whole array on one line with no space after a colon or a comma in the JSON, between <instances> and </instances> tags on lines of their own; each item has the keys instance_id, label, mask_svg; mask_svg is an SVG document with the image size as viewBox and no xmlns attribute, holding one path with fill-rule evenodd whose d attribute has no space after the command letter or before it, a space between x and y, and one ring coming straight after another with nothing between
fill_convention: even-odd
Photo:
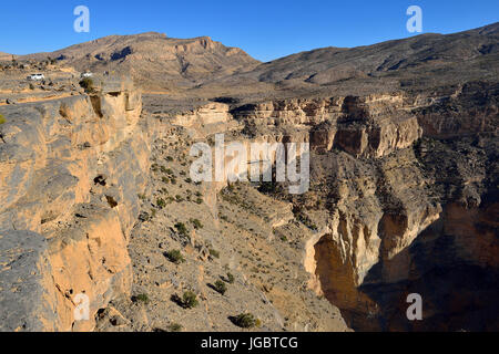
<instances>
[{"instance_id":1,"label":"layered cliff wall on the right dropping into deep dark shadow","mask_svg":"<svg viewBox=\"0 0 499 354\"><path fill-rule=\"evenodd\" d=\"M354 329L497 327L497 96L477 82L234 111L249 136L310 142L310 192L293 198L316 229L304 263ZM420 323L405 317L411 292Z\"/></svg>"}]
</instances>

